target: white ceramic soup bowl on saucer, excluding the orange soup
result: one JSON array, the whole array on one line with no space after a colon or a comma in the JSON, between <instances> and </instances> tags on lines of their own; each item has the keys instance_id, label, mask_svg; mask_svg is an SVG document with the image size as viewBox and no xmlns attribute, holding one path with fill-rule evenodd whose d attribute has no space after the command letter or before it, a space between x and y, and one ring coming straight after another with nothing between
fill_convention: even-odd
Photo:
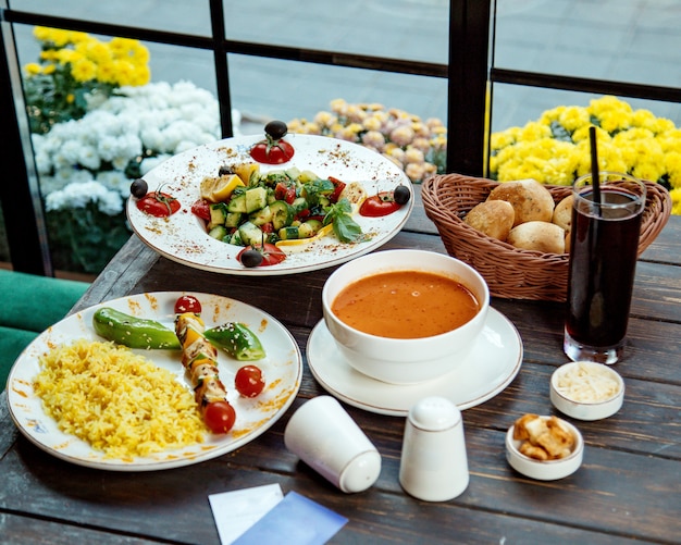
<instances>
[{"instance_id":1,"label":"white ceramic soup bowl on saucer, excluding the orange soup","mask_svg":"<svg viewBox=\"0 0 681 545\"><path fill-rule=\"evenodd\" d=\"M456 330L420 338L389 338L363 333L332 312L332 304L345 286L391 271L424 271L455 278L473 293L480 310ZM482 332L488 308L487 284L472 267L444 253L425 250L384 250L357 258L329 276L322 289L324 322L348 364L360 373L391 384L417 384L454 371Z\"/></svg>"}]
</instances>

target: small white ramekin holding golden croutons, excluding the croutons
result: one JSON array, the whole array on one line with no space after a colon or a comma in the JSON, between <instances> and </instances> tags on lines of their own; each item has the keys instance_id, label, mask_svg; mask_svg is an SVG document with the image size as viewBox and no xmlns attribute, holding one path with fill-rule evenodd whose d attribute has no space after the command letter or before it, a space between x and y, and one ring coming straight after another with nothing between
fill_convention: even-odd
<instances>
[{"instance_id":1,"label":"small white ramekin holding golden croutons, excluding the croutons","mask_svg":"<svg viewBox=\"0 0 681 545\"><path fill-rule=\"evenodd\" d=\"M548 419L550 417L541 417ZM559 419L560 420L560 419ZM582 465L584 457L584 439L580 431L571 423L560 420L560 423L574 435L574 446L572 454L558 460L535 460L518 450L522 441L513 439L515 425L511 425L506 433L506 459L511 468L519 473L537 481L556 481L574 473Z\"/></svg>"}]
</instances>

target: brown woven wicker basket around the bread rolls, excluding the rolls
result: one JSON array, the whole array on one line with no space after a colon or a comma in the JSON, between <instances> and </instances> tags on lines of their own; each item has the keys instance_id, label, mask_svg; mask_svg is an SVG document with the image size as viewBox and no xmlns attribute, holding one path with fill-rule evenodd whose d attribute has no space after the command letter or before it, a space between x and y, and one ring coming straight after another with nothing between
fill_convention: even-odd
<instances>
[{"instance_id":1,"label":"brown woven wicker basket around the bread rolls, excluding the rolls","mask_svg":"<svg viewBox=\"0 0 681 545\"><path fill-rule=\"evenodd\" d=\"M568 253L521 250L483 235L463 222L470 209L487 198L497 182L460 174L432 176L422 186L426 215L435 223L447 252L483 275L490 293L507 299L565 301ZM556 202L571 187L547 186ZM663 230L671 213L671 199L659 184L646 182L639 256Z\"/></svg>"}]
</instances>

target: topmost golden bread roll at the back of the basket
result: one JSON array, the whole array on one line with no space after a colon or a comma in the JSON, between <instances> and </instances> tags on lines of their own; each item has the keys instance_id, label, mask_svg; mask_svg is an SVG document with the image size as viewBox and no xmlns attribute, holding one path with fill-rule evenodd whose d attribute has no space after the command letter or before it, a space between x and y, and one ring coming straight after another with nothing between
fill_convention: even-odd
<instances>
[{"instance_id":1,"label":"topmost golden bread roll at the back of the basket","mask_svg":"<svg viewBox=\"0 0 681 545\"><path fill-rule=\"evenodd\" d=\"M505 182L490 193L487 200L505 200L516 211L513 227L521 223L550 222L554 214L554 198L550 191L535 179Z\"/></svg>"}]
</instances>

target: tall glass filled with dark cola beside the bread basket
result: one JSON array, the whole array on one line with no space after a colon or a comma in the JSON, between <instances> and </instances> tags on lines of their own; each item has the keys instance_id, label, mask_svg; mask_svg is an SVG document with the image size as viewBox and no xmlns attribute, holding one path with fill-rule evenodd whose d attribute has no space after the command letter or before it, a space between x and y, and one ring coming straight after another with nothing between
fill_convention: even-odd
<instances>
[{"instance_id":1,"label":"tall glass filled with dark cola beside the bread basket","mask_svg":"<svg viewBox=\"0 0 681 545\"><path fill-rule=\"evenodd\" d=\"M573 361L621 359L636 268L645 184L628 174L592 174L572 185L570 272L564 350Z\"/></svg>"}]
</instances>

